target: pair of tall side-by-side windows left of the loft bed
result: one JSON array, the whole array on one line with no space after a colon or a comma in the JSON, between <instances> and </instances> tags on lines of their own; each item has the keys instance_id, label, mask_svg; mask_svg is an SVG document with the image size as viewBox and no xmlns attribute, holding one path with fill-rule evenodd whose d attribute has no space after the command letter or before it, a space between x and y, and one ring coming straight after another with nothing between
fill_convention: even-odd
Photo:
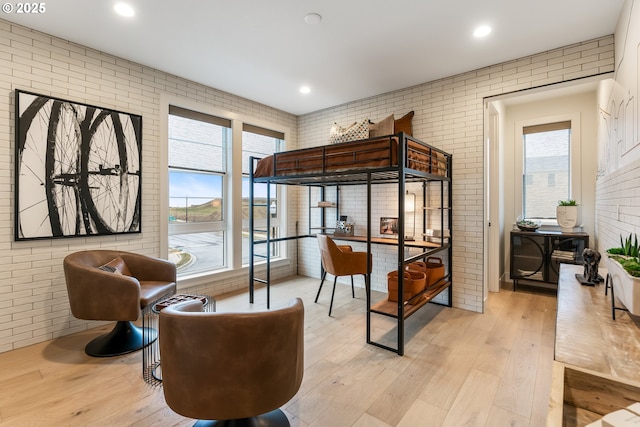
<instances>
[{"instance_id":1,"label":"pair of tall side-by-side windows left of the loft bed","mask_svg":"<svg viewBox=\"0 0 640 427\"><path fill-rule=\"evenodd\" d=\"M239 129L239 124L242 134L234 135L232 129ZM249 158L272 155L283 143L282 132L169 106L168 243L178 277L248 264ZM242 170L234 169L240 162ZM269 206L265 206L267 186L254 189L260 205L253 210L255 238L263 240L266 233L279 237L283 190L272 185ZM266 254L267 246L255 249ZM272 257L284 253L277 243L270 249Z\"/></svg>"}]
</instances>

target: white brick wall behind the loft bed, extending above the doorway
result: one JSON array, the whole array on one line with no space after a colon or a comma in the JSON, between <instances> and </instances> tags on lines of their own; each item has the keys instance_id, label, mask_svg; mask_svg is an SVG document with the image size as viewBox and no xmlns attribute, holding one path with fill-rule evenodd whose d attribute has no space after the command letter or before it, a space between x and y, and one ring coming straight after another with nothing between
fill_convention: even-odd
<instances>
[{"instance_id":1,"label":"white brick wall behind the loft bed, extending above the doorway","mask_svg":"<svg viewBox=\"0 0 640 427\"><path fill-rule=\"evenodd\" d=\"M391 113L398 118L415 111L414 136L453 154L453 305L482 311L483 98L613 68L613 37L603 37L301 116L298 140L301 147L323 145L333 122L346 125L365 117L376 122ZM397 203L393 191L376 197L383 197L380 205L389 209ZM362 202L356 197L350 200ZM374 218L386 212L380 205ZM357 212L356 206L346 203L343 212ZM386 254L387 249L376 251ZM317 264L317 245L301 247L300 254L305 274L318 277L319 266L306 268L307 262ZM396 259L375 256L374 288L386 289L386 272L396 269Z\"/></svg>"}]
</instances>

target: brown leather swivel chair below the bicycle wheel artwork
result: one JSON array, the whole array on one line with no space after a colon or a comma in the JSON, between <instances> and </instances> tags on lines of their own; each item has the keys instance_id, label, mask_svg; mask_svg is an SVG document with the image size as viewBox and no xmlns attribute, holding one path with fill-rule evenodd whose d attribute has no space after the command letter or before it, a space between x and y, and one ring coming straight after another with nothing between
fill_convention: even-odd
<instances>
[{"instance_id":1,"label":"brown leather swivel chair below the bicycle wheel artwork","mask_svg":"<svg viewBox=\"0 0 640 427\"><path fill-rule=\"evenodd\" d=\"M176 266L167 260L115 250L75 252L63 261L71 313L78 319L116 321L113 330L87 344L89 356L118 356L156 338L132 323L141 310L176 292Z\"/></svg>"}]
</instances>

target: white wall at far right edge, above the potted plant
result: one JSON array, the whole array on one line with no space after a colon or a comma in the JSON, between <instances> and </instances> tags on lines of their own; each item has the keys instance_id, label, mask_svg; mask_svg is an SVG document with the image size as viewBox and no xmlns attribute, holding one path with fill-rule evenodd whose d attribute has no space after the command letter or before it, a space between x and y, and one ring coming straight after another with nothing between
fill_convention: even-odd
<instances>
[{"instance_id":1,"label":"white wall at far right edge, above the potted plant","mask_svg":"<svg viewBox=\"0 0 640 427\"><path fill-rule=\"evenodd\" d=\"M627 0L615 32L613 83L598 95L598 250L619 246L620 235L640 234L640 135L638 104L640 4Z\"/></svg>"}]
</instances>

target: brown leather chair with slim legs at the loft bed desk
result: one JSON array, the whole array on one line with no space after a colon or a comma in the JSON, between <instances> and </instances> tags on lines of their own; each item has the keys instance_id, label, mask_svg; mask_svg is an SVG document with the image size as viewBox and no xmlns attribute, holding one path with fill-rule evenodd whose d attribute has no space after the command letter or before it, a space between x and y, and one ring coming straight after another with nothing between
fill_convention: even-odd
<instances>
[{"instance_id":1,"label":"brown leather chair with slim legs at the loft bed desk","mask_svg":"<svg viewBox=\"0 0 640 427\"><path fill-rule=\"evenodd\" d=\"M322 284L327 277L327 273L333 274L333 291L331 292L331 304L329 305L329 316L331 316L331 310L333 309L333 296L336 293L336 281L339 276L351 276L351 297L355 298L355 287L353 285L353 275L363 274L365 281L367 279L367 253L366 252L353 252L353 249L349 245L336 245L336 243L324 234L318 234L318 246L320 248L320 256L322 258L322 280L320 281L320 288L316 294L315 302L318 302L320 291L322 290ZM370 263L373 266L373 258ZM369 270L369 272L371 272Z\"/></svg>"}]
</instances>

